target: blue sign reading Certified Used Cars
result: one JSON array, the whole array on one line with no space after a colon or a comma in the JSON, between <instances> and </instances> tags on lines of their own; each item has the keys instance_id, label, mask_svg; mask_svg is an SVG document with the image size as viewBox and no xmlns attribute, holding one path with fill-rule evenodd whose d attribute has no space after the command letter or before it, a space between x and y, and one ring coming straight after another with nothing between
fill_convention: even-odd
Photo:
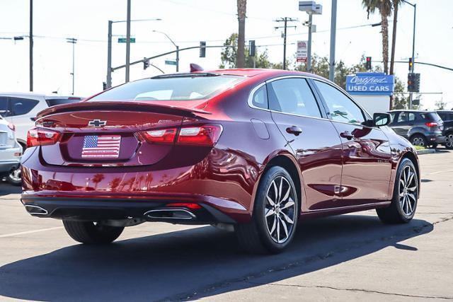
<instances>
[{"instance_id":1,"label":"blue sign reading Certified Used Cars","mask_svg":"<svg viewBox=\"0 0 453 302\"><path fill-rule=\"evenodd\" d=\"M395 78L380 72L360 72L346 77L346 91L350 94L391 95Z\"/></svg>"}]
</instances>

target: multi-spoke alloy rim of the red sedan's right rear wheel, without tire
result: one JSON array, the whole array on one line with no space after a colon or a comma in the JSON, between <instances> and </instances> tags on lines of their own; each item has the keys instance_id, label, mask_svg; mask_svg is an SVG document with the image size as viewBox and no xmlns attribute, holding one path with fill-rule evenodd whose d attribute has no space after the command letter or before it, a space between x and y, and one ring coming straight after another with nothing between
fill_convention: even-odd
<instances>
[{"instance_id":1,"label":"multi-spoke alloy rim of the red sedan's right rear wheel, without tire","mask_svg":"<svg viewBox=\"0 0 453 302\"><path fill-rule=\"evenodd\" d=\"M285 243L291 236L296 215L295 192L289 181L279 176L268 188L265 220L268 233L276 243Z\"/></svg>"}]
</instances>

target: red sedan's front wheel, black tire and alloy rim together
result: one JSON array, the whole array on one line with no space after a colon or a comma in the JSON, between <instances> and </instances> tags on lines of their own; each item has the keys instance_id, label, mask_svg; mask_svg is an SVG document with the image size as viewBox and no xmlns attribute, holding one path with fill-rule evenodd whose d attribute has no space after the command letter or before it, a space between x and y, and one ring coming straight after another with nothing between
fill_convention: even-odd
<instances>
[{"instance_id":1,"label":"red sedan's front wheel, black tire and alloy rim together","mask_svg":"<svg viewBox=\"0 0 453 302\"><path fill-rule=\"evenodd\" d=\"M389 207L376 209L384 223L408 223L415 215L418 202L418 175L408 158L403 158L396 171L394 195Z\"/></svg>"}]
</instances>

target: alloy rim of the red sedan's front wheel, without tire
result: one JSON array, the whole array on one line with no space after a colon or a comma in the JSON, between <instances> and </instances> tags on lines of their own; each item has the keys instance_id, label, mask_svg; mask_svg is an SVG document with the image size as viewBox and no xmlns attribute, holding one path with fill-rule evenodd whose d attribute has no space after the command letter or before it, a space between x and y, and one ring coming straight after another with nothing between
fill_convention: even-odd
<instances>
[{"instance_id":1,"label":"alloy rim of the red sedan's front wheel, without tire","mask_svg":"<svg viewBox=\"0 0 453 302\"><path fill-rule=\"evenodd\" d=\"M403 168L399 179L399 203L403 214L411 216L417 204L418 182L415 171L409 165Z\"/></svg>"}]
</instances>

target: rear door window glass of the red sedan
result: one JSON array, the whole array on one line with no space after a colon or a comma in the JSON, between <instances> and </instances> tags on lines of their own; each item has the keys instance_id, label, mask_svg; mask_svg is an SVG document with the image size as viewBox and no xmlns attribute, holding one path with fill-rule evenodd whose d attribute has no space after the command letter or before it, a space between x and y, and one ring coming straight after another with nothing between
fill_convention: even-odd
<instances>
[{"instance_id":1,"label":"rear door window glass of the red sedan","mask_svg":"<svg viewBox=\"0 0 453 302\"><path fill-rule=\"evenodd\" d=\"M307 117L321 117L318 103L306 79L282 79L270 82L271 110Z\"/></svg>"}]
</instances>

